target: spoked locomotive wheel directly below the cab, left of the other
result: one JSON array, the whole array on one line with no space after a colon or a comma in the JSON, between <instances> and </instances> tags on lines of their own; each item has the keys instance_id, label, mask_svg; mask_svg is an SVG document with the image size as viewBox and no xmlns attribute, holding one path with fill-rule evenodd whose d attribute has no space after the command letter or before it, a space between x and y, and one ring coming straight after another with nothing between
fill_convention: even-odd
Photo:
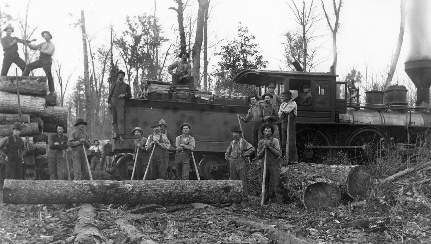
<instances>
[{"instance_id":1,"label":"spoked locomotive wheel directly below the cab, left of the other","mask_svg":"<svg viewBox=\"0 0 431 244\"><path fill-rule=\"evenodd\" d=\"M302 128L297 131L298 162L321 163L323 157L332 153L329 138L314 128Z\"/></svg>"}]
</instances>

